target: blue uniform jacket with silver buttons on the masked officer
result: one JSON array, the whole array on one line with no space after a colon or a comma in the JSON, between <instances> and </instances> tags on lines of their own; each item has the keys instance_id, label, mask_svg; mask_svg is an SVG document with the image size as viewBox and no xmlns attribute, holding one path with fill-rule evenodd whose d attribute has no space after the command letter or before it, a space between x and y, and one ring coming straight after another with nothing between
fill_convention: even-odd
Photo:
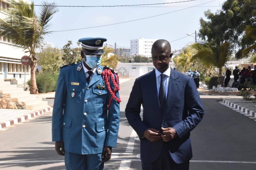
<instances>
[{"instance_id":1,"label":"blue uniform jacket with silver buttons on the masked officer","mask_svg":"<svg viewBox=\"0 0 256 170\"><path fill-rule=\"evenodd\" d=\"M97 67L88 85L83 68L78 71L80 64L60 69L52 112L52 141L63 141L69 152L97 154L104 145L116 146L120 107L113 99L107 111L111 98L108 88L96 87L104 85L102 74L97 73L103 67Z\"/></svg>"}]
</instances>

